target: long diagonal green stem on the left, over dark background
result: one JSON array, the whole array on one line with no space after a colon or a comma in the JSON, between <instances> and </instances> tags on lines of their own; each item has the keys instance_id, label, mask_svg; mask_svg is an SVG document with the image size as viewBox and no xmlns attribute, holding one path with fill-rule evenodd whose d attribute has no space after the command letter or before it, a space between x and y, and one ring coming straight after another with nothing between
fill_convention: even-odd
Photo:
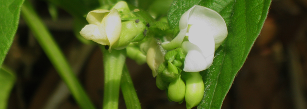
<instances>
[{"instance_id":1,"label":"long diagonal green stem on the left, over dark background","mask_svg":"<svg viewBox=\"0 0 307 109\"><path fill-rule=\"evenodd\" d=\"M21 14L23 19L33 31L35 38L43 48L47 57L58 71L59 76L67 84L73 94L74 99L82 109L95 109L94 105L89 100L87 94L80 85L78 79L74 75L70 65L64 58L60 48L52 38L43 21L39 18L29 1L25 1Z\"/></svg>"}]
</instances>

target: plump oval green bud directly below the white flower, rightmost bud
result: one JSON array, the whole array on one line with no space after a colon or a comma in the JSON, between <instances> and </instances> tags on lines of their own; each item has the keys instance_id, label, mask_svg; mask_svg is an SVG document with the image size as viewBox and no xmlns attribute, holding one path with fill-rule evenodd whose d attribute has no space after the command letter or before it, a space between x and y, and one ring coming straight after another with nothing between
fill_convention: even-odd
<instances>
[{"instance_id":1,"label":"plump oval green bud directly below the white flower, rightmost bud","mask_svg":"<svg viewBox=\"0 0 307 109\"><path fill-rule=\"evenodd\" d=\"M205 86L202 76L198 72L186 72L188 76L186 78L186 106L187 109L191 109L198 105L204 96Z\"/></svg>"}]
</instances>

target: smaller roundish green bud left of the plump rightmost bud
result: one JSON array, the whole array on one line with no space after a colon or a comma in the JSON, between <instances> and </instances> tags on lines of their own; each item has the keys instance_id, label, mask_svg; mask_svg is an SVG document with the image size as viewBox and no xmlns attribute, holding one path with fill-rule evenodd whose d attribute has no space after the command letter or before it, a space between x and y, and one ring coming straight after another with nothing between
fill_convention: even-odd
<instances>
[{"instance_id":1,"label":"smaller roundish green bud left of the plump rightmost bud","mask_svg":"<svg viewBox=\"0 0 307 109\"><path fill-rule=\"evenodd\" d=\"M180 76L168 86L168 97L175 102L183 100L186 93L186 85Z\"/></svg>"}]
</instances>

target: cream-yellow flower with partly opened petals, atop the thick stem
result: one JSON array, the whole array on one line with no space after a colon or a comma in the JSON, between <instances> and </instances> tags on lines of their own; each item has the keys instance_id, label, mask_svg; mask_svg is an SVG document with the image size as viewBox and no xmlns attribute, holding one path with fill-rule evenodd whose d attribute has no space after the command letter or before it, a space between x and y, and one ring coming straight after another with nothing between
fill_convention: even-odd
<instances>
[{"instance_id":1,"label":"cream-yellow flower with partly opened petals, atop the thick stem","mask_svg":"<svg viewBox=\"0 0 307 109\"><path fill-rule=\"evenodd\" d=\"M117 9L94 10L88 13L86 25L80 34L88 40L111 47L117 42L121 32L121 19Z\"/></svg>"}]
</instances>

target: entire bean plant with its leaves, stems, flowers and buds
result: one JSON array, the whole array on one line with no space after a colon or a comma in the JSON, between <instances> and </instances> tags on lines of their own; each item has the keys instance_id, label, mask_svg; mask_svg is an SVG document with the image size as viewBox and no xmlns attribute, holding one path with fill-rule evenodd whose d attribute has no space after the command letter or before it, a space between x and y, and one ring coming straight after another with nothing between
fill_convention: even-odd
<instances>
[{"instance_id":1,"label":"entire bean plant with its leaves, stems, flowers and buds","mask_svg":"<svg viewBox=\"0 0 307 109\"><path fill-rule=\"evenodd\" d=\"M169 101L220 109L259 35L271 0L46 0L71 14L76 38L103 53L102 109L141 109L125 63L147 64ZM56 10L50 11L52 16ZM22 16L81 109L96 109L28 0L0 1L0 109L16 76L2 64Z\"/></svg>"}]
</instances>

